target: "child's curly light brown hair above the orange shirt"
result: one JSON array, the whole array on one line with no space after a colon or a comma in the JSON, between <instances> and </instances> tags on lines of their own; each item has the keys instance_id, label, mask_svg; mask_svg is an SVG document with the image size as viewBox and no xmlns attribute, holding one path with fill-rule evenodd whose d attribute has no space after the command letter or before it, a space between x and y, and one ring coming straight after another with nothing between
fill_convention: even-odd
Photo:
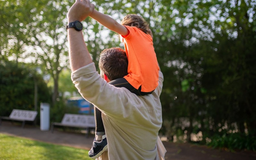
<instances>
[{"instance_id":1,"label":"child's curly light brown hair above the orange shirt","mask_svg":"<svg viewBox=\"0 0 256 160\"><path fill-rule=\"evenodd\" d=\"M131 26L140 28L140 30L146 34L150 34L150 28L146 20L142 17L138 16L137 14L128 14L126 15L123 20L121 21L121 25Z\"/></svg>"}]
</instances>

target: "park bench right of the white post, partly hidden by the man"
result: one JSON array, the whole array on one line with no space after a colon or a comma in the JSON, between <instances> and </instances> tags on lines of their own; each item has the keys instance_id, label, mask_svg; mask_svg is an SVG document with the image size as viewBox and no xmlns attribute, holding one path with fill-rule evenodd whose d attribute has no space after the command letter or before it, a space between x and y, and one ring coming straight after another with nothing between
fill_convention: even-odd
<instances>
[{"instance_id":1,"label":"park bench right of the white post, partly hidden by the man","mask_svg":"<svg viewBox=\"0 0 256 160\"><path fill-rule=\"evenodd\" d=\"M66 126L85 128L87 137L91 129L95 128L95 119L93 115L78 115L78 114L65 114L61 122L52 122L51 132L53 133L54 126Z\"/></svg>"}]
</instances>

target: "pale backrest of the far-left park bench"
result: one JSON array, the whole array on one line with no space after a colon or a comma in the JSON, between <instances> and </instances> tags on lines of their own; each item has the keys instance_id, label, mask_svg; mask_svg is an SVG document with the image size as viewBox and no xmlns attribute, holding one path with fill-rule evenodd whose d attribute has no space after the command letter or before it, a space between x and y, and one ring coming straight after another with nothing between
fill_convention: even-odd
<instances>
[{"instance_id":1,"label":"pale backrest of the far-left park bench","mask_svg":"<svg viewBox=\"0 0 256 160\"><path fill-rule=\"evenodd\" d=\"M9 116L12 119L19 119L25 121L34 121L37 115L37 111L28 111L13 109L11 115Z\"/></svg>"}]
</instances>

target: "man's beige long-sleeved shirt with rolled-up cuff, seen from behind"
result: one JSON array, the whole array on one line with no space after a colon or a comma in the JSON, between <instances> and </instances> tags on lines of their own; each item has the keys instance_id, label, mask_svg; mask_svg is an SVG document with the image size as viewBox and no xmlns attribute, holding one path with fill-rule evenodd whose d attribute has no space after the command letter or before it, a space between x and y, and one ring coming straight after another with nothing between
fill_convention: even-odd
<instances>
[{"instance_id":1,"label":"man's beige long-sleeved shirt with rolled-up cuff, seen from behind","mask_svg":"<svg viewBox=\"0 0 256 160\"><path fill-rule=\"evenodd\" d=\"M159 85L146 96L137 96L125 88L104 81L93 63L72 73L81 95L102 111L108 139L109 159L158 159L156 140L162 126Z\"/></svg>"}]
</instances>

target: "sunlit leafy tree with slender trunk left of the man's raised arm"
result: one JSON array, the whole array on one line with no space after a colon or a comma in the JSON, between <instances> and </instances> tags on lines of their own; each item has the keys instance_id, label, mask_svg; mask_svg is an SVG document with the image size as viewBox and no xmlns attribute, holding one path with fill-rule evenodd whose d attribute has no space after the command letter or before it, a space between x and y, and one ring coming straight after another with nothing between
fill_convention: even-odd
<instances>
[{"instance_id":1,"label":"sunlit leafy tree with slender trunk left of the man's raised arm","mask_svg":"<svg viewBox=\"0 0 256 160\"><path fill-rule=\"evenodd\" d=\"M0 4L0 56L40 65L53 79L53 103L59 96L59 74L68 65L65 25L67 8L73 2L4 0Z\"/></svg>"}]
</instances>

